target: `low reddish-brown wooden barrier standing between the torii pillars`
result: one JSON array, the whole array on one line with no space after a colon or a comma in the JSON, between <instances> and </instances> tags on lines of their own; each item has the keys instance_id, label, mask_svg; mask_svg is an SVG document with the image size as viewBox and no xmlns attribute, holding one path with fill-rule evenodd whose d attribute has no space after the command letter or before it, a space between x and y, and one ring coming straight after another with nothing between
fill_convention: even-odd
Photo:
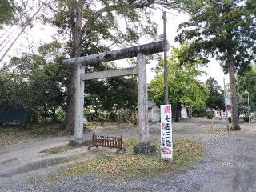
<instances>
[{"instance_id":1,"label":"low reddish-brown wooden barrier standing between the torii pillars","mask_svg":"<svg viewBox=\"0 0 256 192\"><path fill-rule=\"evenodd\" d=\"M91 147L110 147L110 148L117 148L118 151L120 152L121 150L126 151L125 148L122 146L122 136L120 138L118 137L108 137L108 136L99 136L96 134L93 134L93 139L92 139L92 146L89 146L88 149L90 150Z\"/></svg>"}]
</instances>

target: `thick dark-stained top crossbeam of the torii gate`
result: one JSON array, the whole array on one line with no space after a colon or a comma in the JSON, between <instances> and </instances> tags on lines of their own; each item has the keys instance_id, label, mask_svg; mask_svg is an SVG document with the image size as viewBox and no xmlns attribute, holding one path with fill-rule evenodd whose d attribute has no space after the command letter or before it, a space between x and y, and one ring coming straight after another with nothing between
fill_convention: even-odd
<instances>
[{"instance_id":1,"label":"thick dark-stained top crossbeam of the torii gate","mask_svg":"<svg viewBox=\"0 0 256 192\"><path fill-rule=\"evenodd\" d=\"M168 42L167 42L168 44ZM167 46L169 47L169 46ZM164 41L151 42L141 46L132 46L121 50L111 50L99 54L90 54L80 58L70 58L62 62L64 67L72 67L78 64L86 65L98 62L110 62L123 58L134 58L138 54L156 54L164 50Z\"/></svg>"}]
</instances>

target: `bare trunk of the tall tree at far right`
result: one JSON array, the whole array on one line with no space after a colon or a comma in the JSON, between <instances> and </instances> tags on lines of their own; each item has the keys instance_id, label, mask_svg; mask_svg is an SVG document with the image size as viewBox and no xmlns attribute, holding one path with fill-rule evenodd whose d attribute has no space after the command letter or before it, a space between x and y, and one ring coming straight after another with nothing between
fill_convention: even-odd
<instances>
[{"instance_id":1,"label":"bare trunk of the tall tree at far right","mask_svg":"<svg viewBox=\"0 0 256 192\"><path fill-rule=\"evenodd\" d=\"M235 79L235 66L233 59L233 55L228 53L227 63L228 72L230 75L231 130L240 130L240 126L238 123L238 98Z\"/></svg>"}]
</instances>

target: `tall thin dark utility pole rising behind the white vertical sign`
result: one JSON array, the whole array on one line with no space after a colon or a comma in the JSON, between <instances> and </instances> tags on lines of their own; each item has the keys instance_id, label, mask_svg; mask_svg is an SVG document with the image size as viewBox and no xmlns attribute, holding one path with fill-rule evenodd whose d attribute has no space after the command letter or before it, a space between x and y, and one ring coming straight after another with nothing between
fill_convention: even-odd
<instances>
[{"instance_id":1,"label":"tall thin dark utility pole rising behind the white vertical sign","mask_svg":"<svg viewBox=\"0 0 256 192\"><path fill-rule=\"evenodd\" d=\"M167 65L167 34L166 34L166 11L163 12L163 37L164 37L164 82L165 82L165 105L169 103L168 99L168 65Z\"/></svg>"}]
</instances>

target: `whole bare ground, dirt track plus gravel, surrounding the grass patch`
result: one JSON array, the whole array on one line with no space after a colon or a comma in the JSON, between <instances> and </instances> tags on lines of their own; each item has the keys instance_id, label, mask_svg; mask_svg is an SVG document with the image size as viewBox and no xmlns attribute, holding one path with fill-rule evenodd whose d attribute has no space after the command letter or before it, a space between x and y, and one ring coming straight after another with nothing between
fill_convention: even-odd
<instances>
[{"instance_id":1,"label":"whole bare ground, dirt track plus gravel, surrounding the grass patch","mask_svg":"<svg viewBox=\"0 0 256 192\"><path fill-rule=\"evenodd\" d=\"M210 121L202 118L174 123L173 126L174 135L201 141L206 146L202 161L181 173L124 183L106 183L91 175L40 186L26 183L28 178L52 173L66 163L94 155L93 150L84 147L63 154L38 153L66 144L69 139L54 138L0 148L0 191L256 191L256 124L243 123L242 131L230 134L210 131ZM158 135L158 127L158 124L151 124L150 134ZM225 128L225 121L214 122L214 127ZM97 130L97 133L122 134L126 139L138 137L135 128ZM91 134L87 132L86 136L90 138Z\"/></svg>"}]
</instances>

